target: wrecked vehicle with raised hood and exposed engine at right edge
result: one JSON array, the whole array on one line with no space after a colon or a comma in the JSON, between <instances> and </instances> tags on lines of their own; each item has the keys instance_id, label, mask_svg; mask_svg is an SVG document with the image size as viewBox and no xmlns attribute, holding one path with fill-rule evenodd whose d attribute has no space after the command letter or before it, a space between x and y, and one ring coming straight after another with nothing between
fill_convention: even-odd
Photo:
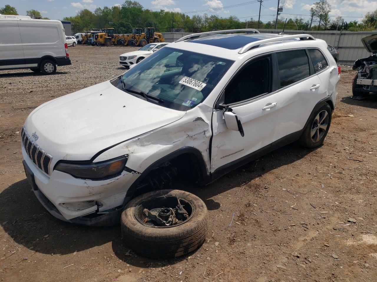
<instances>
[{"instance_id":1,"label":"wrecked vehicle with raised hood and exposed engine at right edge","mask_svg":"<svg viewBox=\"0 0 377 282\"><path fill-rule=\"evenodd\" d=\"M357 70L352 81L353 97L366 97L377 93L377 34L361 39L365 49L373 55L355 61L352 69Z\"/></svg>"}]
</instances>

